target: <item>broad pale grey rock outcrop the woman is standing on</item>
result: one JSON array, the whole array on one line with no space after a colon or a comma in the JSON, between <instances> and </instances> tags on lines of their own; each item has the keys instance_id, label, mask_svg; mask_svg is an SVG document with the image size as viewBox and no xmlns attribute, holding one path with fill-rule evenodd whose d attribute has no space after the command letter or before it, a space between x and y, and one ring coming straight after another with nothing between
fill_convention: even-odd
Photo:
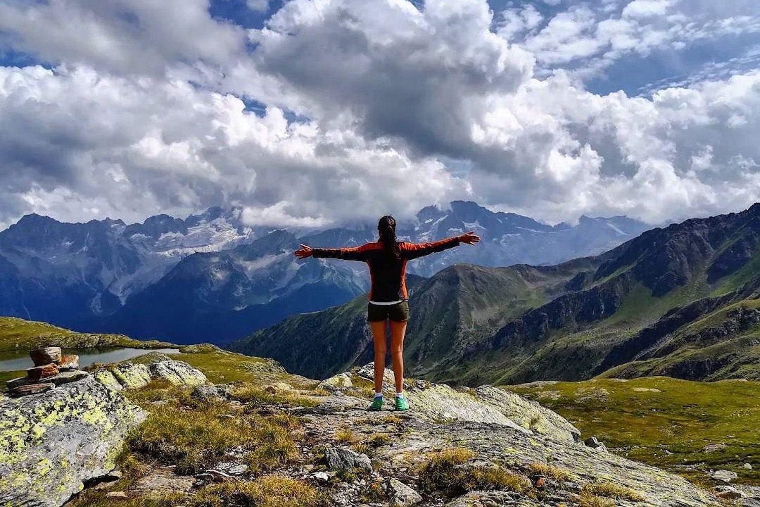
<instances>
[{"instance_id":1,"label":"broad pale grey rock outcrop the woman is standing on","mask_svg":"<svg viewBox=\"0 0 760 507\"><path fill-rule=\"evenodd\" d=\"M463 470L518 474L533 485L534 493L463 492L449 500L448 507L597 505L580 502L581 490L584 485L606 482L638 498L617 499L609 504L617 507L719 505L712 493L681 477L584 444L579 441L578 429L558 414L491 386L454 389L448 385L412 381L405 386L409 412L394 412L390 418L385 410L368 412L366 394L356 386L366 383L370 370L369 367L353 369L346 374L353 388L321 396L316 407L302 408L297 413L305 421L309 437L331 445L325 452L328 469L349 466L346 463L350 459L338 459L347 454L339 437L347 428L355 442L372 442L378 439L378 434L385 436L383 445L375 448L372 456L375 465L372 474L377 480L385 480L388 490L389 503L382 505L417 505L417 502L444 505L431 503L430 498L423 502L417 477L409 471L419 471L436 452L454 448L471 455L469 461L461 465ZM388 376L386 384L390 380ZM340 382L345 383L345 379ZM390 400L386 403L391 410ZM565 477L552 480L530 472L531 466L546 467L553 474ZM352 494L350 489L339 493L333 498L333 505L360 505L361 500Z\"/></svg>"}]
</instances>

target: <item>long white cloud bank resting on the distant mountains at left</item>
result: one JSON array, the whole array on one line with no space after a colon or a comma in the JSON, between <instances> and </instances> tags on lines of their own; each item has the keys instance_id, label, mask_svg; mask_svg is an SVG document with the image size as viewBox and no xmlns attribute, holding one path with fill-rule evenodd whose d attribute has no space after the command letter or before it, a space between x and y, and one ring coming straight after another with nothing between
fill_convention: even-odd
<instances>
[{"instance_id":1,"label":"long white cloud bank resting on the distant mountains at left","mask_svg":"<svg viewBox=\"0 0 760 507\"><path fill-rule=\"evenodd\" d=\"M287 211L328 223L467 193L430 157L288 123L277 108L263 117L244 109L182 81L0 68L0 220L31 210L138 220L236 204L252 217Z\"/></svg>"}]
</instances>

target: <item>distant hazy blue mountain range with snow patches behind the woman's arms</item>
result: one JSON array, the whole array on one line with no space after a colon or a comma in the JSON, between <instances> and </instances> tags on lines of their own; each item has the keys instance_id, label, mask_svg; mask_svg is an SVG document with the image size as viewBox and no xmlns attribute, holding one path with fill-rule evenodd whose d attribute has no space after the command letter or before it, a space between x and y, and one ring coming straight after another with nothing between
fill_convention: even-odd
<instances>
[{"instance_id":1,"label":"distant hazy blue mountain range with snow patches behind the woman's arms","mask_svg":"<svg viewBox=\"0 0 760 507\"><path fill-rule=\"evenodd\" d=\"M423 277L457 263L547 265L594 255L647 230L626 217L581 217L547 225L473 202L429 206L399 223L415 242L476 230L477 249L419 259ZM0 315L77 331L127 333L187 344L223 344L301 312L346 303L366 292L366 267L298 262L299 242L356 246L375 239L374 223L325 230L252 227L239 208L210 208L185 219L144 223L62 223L27 215L0 232Z\"/></svg>"}]
</instances>

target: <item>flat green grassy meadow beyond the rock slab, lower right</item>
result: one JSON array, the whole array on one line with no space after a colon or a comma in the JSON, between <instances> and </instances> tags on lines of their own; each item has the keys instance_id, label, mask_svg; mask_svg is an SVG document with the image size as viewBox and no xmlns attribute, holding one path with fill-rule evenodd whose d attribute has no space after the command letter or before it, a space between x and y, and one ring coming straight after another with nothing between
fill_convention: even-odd
<instances>
[{"instance_id":1,"label":"flat green grassy meadow beyond the rock slab, lower right","mask_svg":"<svg viewBox=\"0 0 760 507\"><path fill-rule=\"evenodd\" d=\"M655 377L503 388L556 410L626 458L705 485L708 472L719 469L736 472L739 483L760 484L760 382Z\"/></svg>"}]
</instances>

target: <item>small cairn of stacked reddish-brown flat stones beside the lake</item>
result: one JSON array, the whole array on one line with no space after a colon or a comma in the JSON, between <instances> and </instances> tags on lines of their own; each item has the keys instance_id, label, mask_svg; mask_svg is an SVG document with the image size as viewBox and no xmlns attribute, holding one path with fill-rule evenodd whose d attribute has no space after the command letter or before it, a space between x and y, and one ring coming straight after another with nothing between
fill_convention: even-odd
<instances>
[{"instance_id":1,"label":"small cairn of stacked reddish-brown flat stones beside the lake","mask_svg":"<svg viewBox=\"0 0 760 507\"><path fill-rule=\"evenodd\" d=\"M27 376L5 382L8 394L14 398L36 395L56 385L74 382L90 375L79 368L79 356L65 356L61 347L43 347L31 350L34 366L27 368Z\"/></svg>"}]
</instances>

